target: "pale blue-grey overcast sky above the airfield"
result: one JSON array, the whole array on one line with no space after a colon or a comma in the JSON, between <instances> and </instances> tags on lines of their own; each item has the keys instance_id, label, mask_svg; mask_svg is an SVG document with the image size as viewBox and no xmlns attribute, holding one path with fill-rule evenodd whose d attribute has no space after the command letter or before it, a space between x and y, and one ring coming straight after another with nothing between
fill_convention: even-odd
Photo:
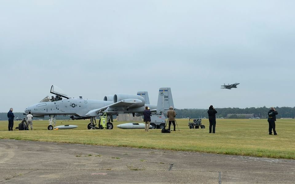
<instances>
[{"instance_id":1,"label":"pale blue-grey overcast sky above the airfield","mask_svg":"<svg viewBox=\"0 0 295 184\"><path fill-rule=\"evenodd\" d=\"M294 107L295 1L0 0L0 112L171 87L175 108ZM223 83L240 83L221 89Z\"/></svg>"}]
</instances>

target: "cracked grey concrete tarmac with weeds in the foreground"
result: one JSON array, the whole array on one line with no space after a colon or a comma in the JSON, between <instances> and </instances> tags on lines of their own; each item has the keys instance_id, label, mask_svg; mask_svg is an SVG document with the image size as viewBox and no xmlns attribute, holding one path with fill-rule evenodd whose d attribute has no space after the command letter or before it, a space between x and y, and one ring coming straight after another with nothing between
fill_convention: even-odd
<instances>
[{"instance_id":1,"label":"cracked grey concrete tarmac with weeds in the foreground","mask_svg":"<svg viewBox=\"0 0 295 184\"><path fill-rule=\"evenodd\" d=\"M2 183L295 183L295 160L0 139Z\"/></svg>"}]
</instances>

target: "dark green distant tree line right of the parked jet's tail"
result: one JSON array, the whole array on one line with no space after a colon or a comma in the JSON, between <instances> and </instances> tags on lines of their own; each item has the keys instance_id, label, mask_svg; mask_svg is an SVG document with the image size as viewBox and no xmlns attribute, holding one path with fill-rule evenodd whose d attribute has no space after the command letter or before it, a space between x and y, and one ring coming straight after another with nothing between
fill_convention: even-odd
<instances>
[{"instance_id":1,"label":"dark green distant tree line right of the parked jet's tail","mask_svg":"<svg viewBox=\"0 0 295 184\"><path fill-rule=\"evenodd\" d=\"M277 118L294 118L295 117L295 107L275 107L276 111L278 112ZM175 109L176 118L208 118L208 109ZM216 108L218 112L216 117L218 118L226 118L227 114L232 114L229 118L242 118L243 116L237 117L235 114L254 114L255 117L259 118L267 118L267 112L269 108L267 107L260 107L260 108Z\"/></svg>"}]
</instances>

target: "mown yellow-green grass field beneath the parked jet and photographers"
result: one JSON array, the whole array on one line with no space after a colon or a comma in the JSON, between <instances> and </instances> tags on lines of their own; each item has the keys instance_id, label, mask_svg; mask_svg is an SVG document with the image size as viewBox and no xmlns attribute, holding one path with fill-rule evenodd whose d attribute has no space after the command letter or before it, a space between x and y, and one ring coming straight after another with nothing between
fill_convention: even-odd
<instances>
[{"instance_id":1,"label":"mown yellow-green grass field beneath the parked jet and photographers","mask_svg":"<svg viewBox=\"0 0 295 184\"><path fill-rule=\"evenodd\" d=\"M14 128L20 121L14 121ZM33 121L33 131L7 131L8 121L0 121L0 139L80 143L115 147L155 148L197 151L227 155L247 155L295 159L295 119L278 119L278 135L268 135L266 119L217 119L216 134L209 134L209 121L202 120L205 129L189 129L188 119L177 119L180 131L160 133L160 129L125 130L116 125L112 130L88 130L89 120L57 120L58 125L78 125L70 130L47 130L48 121ZM142 123L142 122L139 122ZM177 129L177 128L176 128ZM15 129L14 129L15 130Z\"/></svg>"}]
</instances>

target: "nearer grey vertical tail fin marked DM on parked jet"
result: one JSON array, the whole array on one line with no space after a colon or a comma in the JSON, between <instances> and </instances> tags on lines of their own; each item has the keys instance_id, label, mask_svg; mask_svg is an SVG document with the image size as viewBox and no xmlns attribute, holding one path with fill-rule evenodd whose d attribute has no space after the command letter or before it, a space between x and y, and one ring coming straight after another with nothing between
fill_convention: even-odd
<instances>
[{"instance_id":1,"label":"nearer grey vertical tail fin marked DM on parked jet","mask_svg":"<svg viewBox=\"0 0 295 184\"><path fill-rule=\"evenodd\" d=\"M164 113L169 110L169 107L174 108L171 88L160 88L158 103L157 103L157 113Z\"/></svg>"}]
</instances>

